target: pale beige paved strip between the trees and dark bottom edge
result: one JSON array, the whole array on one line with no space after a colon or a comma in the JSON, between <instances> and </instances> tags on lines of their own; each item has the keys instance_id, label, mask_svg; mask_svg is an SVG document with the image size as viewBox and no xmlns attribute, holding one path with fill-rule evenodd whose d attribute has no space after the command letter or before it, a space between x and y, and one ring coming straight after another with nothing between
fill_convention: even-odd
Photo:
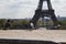
<instances>
[{"instance_id":1,"label":"pale beige paved strip between the trees and dark bottom edge","mask_svg":"<svg viewBox=\"0 0 66 44\"><path fill-rule=\"evenodd\" d=\"M66 30L0 30L0 38L66 42Z\"/></svg>"}]
</instances>

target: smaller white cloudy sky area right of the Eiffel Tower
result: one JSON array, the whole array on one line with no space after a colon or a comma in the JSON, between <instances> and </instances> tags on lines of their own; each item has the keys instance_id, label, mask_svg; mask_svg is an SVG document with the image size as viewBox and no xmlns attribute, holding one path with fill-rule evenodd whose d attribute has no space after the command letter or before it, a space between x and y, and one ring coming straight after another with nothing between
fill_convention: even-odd
<instances>
[{"instance_id":1,"label":"smaller white cloudy sky area right of the Eiffel Tower","mask_svg":"<svg viewBox=\"0 0 66 44\"><path fill-rule=\"evenodd\" d=\"M66 16L66 0L52 0L56 15Z\"/></svg>"}]
</instances>

